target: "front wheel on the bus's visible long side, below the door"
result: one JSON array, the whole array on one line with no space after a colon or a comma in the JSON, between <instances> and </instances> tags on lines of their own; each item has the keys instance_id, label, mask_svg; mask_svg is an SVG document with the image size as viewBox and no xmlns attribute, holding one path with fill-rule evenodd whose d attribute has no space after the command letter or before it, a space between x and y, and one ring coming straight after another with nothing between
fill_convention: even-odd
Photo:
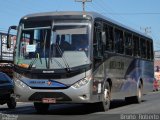
<instances>
[{"instance_id":1,"label":"front wheel on the bus's visible long side, below the door","mask_svg":"<svg viewBox=\"0 0 160 120\"><path fill-rule=\"evenodd\" d=\"M106 82L103 89L102 102L100 103L100 110L107 111L110 108L111 90L109 83Z\"/></svg>"}]
</instances>

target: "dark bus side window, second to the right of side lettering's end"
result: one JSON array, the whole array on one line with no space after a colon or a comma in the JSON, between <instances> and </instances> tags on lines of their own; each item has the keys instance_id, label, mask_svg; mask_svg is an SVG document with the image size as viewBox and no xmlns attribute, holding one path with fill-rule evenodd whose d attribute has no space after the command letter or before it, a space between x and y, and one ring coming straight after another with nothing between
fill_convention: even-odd
<instances>
[{"instance_id":1,"label":"dark bus side window, second to the right of side lettering's end","mask_svg":"<svg viewBox=\"0 0 160 120\"><path fill-rule=\"evenodd\" d=\"M138 57L140 56L140 47L139 47L139 37L136 37L136 36L133 36L133 46L134 46L134 50L133 50L133 53L134 53L134 56L135 57Z\"/></svg>"}]
</instances>

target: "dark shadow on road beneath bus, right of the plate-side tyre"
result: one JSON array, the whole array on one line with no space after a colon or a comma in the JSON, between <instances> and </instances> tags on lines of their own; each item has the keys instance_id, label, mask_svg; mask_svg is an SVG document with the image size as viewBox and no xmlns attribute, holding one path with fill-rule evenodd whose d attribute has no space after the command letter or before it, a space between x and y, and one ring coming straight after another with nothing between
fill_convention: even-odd
<instances>
[{"instance_id":1,"label":"dark shadow on road beneath bus, right of the plate-side tyre","mask_svg":"<svg viewBox=\"0 0 160 120\"><path fill-rule=\"evenodd\" d=\"M142 101L145 102L145 101ZM134 103L126 102L125 100L114 100L111 102L110 109L115 109L118 107L123 107L131 105ZM67 104L59 105L61 108L55 108L54 105L51 105L48 115L85 115L92 114L99 111L99 108L94 104Z\"/></svg>"}]
</instances>

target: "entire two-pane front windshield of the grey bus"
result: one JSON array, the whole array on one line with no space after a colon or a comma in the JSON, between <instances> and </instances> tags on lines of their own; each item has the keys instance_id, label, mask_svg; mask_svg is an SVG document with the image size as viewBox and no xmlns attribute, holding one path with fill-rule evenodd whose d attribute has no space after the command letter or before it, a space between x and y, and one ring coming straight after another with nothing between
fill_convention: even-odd
<instances>
[{"instance_id":1,"label":"entire two-pane front windshield of the grey bus","mask_svg":"<svg viewBox=\"0 0 160 120\"><path fill-rule=\"evenodd\" d=\"M87 25L21 30L17 65L34 69L65 69L90 63Z\"/></svg>"}]
</instances>

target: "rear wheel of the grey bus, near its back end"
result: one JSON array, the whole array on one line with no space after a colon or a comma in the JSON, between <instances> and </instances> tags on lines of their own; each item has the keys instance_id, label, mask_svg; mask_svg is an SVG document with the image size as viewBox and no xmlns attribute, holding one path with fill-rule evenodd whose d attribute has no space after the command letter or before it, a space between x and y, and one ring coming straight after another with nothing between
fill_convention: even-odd
<instances>
[{"instance_id":1,"label":"rear wheel of the grey bus, near its back end","mask_svg":"<svg viewBox=\"0 0 160 120\"><path fill-rule=\"evenodd\" d=\"M140 83L137 89L137 96L134 97L134 102L141 103L141 101L142 101L142 84Z\"/></svg>"}]
</instances>

